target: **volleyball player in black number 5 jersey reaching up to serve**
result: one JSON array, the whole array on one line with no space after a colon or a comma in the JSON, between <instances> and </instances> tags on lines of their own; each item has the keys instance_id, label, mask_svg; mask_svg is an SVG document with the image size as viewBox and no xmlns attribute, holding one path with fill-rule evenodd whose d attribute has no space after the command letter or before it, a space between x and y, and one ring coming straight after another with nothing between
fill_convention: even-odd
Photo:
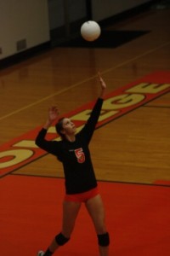
<instances>
[{"instance_id":1,"label":"volleyball player in black number 5 jersey reaching up to serve","mask_svg":"<svg viewBox=\"0 0 170 256\"><path fill-rule=\"evenodd\" d=\"M65 173L65 198L63 201L63 223L58 235L49 245L47 251L37 253L37 256L51 256L60 246L63 246L71 238L77 214L81 204L84 203L98 237L99 255L108 256L110 244L109 233L105 226L105 209L99 195L98 185L94 174L88 144L93 136L95 125L98 122L100 110L105 95L105 81L101 78L101 93L96 101L90 117L81 131L71 119L59 119L55 125L61 141L48 141L45 139L48 128L59 117L59 109L49 108L48 119L42 130L37 135L37 146L50 154L57 156L62 162Z\"/></svg>"}]
</instances>

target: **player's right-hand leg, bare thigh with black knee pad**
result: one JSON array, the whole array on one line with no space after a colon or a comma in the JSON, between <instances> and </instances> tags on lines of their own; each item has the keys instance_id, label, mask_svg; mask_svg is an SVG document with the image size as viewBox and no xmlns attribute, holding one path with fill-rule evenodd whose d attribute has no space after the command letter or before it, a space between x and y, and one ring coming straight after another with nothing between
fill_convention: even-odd
<instances>
[{"instance_id":1,"label":"player's right-hand leg, bare thigh with black knee pad","mask_svg":"<svg viewBox=\"0 0 170 256\"><path fill-rule=\"evenodd\" d=\"M109 255L110 238L105 226L105 208L100 195L96 195L86 202L88 213L91 216L98 236L100 256Z\"/></svg>"}]
</instances>

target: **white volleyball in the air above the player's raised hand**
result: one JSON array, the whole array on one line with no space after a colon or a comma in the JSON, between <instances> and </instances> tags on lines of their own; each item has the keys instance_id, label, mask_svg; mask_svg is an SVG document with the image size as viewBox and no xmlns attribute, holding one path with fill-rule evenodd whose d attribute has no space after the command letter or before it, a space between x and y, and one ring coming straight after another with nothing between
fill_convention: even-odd
<instances>
[{"instance_id":1,"label":"white volleyball in the air above the player's raised hand","mask_svg":"<svg viewBox=\"0 0 170 256\"><path fill-rule=\"evenodd\" d=\"M81 35L86 41L94 41L99 38L101 29L99 24L94 20L88 20L81 26Z\"/></svg>"}]
</instances>

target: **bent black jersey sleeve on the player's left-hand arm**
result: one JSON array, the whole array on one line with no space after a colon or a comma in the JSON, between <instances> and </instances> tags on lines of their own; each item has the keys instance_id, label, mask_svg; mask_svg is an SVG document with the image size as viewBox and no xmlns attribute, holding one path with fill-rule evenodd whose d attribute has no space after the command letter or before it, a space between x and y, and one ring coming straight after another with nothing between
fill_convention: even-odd
<instances>
[{"instance_id":1,"label":"bent black jersey sleeve on the player's left-hand arm","mask_svg":"<svg viewBox=\"0 0 170 256\"><path fill-rule=\"evenodd\" d=\"M42 128L41 131L39 131L37 138L36 138L36 144L39 148L42 148L43 150L47 151L50 154L54 154L55 156L58 156L59 154L59 142L56 141L48 141L45 139L47 134L47 130Z\"/></svg>"}]
</instances>

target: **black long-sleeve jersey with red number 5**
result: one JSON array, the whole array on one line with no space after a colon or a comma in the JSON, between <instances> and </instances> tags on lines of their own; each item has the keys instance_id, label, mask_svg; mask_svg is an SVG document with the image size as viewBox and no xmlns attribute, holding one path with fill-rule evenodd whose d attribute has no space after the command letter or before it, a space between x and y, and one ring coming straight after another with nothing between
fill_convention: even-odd
<instances>
[{"instance_id":1,"label":"black long-sleeve jersey with red number 5","mask_svg":"<svg viewBox=\"0 0 170 256\"><path fill-rule=\"evenodd\" d=\"M82 193L97 187L88 144L94 134L102 104L103 99L99 98L87 123L76 134L74 142L69 142L66 139L58 142L48 141L45 139L47 130L44 128L37 135L37 146L57 156L63 164L66 194Z\"/></svg>"}]
</instances>

